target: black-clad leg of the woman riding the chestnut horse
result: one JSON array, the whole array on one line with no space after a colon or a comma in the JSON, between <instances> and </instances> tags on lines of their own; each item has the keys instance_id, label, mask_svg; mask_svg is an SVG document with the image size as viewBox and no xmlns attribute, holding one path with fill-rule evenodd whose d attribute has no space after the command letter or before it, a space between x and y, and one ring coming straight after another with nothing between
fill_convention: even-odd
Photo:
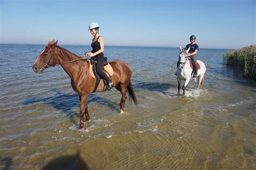
<instances>
[{"instance_id":1,"label":"black-clad leg of the woman riding the chestnut horse","mask_svg":"<svg viewBox=\"0 0 256 170\"><path fill-rule=\"evenodd\" d=\"M107 77L105 71L104 71L104 62L105 62L105 59L104 57L99 57L98 60L97 60L97 65L96 65L96 71L97 73L99 74L99 76L103 79L105 79L107 81L107 89L111 89L114 85L112 83L112 80Z\"/></svg>"}]
</instances>

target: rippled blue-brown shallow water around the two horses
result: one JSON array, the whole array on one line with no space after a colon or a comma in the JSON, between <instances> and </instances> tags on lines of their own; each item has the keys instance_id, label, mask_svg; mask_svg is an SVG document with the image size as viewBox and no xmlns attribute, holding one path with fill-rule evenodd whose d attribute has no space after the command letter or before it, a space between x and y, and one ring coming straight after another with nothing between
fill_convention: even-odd
<instances>
[{"instance_id":1,"label":"rippled blue-brown shallow water around the two horses","mask_svg":"<svg viewBox=\"0 0 256 170\"><path fill-rule=\"evenodd\" d=\"M90 46L66 46L82 56ZM106 46L133 69L139 106L92 93L82 132L79 98L60 66L32 70L45 45L0 45L0 169L255 169L256 83L200 49L205 89L177 96L179 48ZM183 81L184 83L184 81Z\"/></svg>"}]
</instances>

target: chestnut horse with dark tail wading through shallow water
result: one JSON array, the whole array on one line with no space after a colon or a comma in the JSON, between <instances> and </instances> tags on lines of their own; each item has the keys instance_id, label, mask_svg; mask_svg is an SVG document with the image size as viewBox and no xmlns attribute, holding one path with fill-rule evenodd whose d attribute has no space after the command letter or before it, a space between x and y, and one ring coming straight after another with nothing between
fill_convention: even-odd
<instances>
[{"instance_id":1,"label":"chestnut horse with dark tail wading through shallow water","mask_svg":"<svg viewBox=\"0 0 256 170\"><path fill-rule=\"evenodd\" d=\"M58 40L52 40L48 46L41 52L32 69L36 73L43 73L45 69L55 65L61 65L66 73L71 78L71 86L75 92L78 93L80 99L80 124L78 130L84 127L84 122L89 121L90 116L87 108L87 101L90 93L93 92L96 84L89 71L90 63L87 63L82 57L78 57L70 51L63 49L57 45ZM113 60L109 62L112 66L114 74L111 77L114 87L121 92L122 98L120 101L121 112L124 112L124 104L127 98L126 91L129 92L134 104L137 106L137 98L133 90L131 76L131 67L120 60ZM106 91L106 87L101 80L96 92ZM85 114L85 121L84 121Z\"/></svg>"}]
</instances>

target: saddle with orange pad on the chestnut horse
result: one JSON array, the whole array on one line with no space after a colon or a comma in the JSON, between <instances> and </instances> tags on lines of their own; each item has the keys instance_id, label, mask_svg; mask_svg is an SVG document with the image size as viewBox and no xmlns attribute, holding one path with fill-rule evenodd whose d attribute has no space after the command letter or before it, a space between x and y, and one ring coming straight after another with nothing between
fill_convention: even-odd
<instances>
[{"instance_id":1,"label":"saddle with orange pad on the chestnut horse","mask_svg":"<svg viewBox=\"0 0 256 170\"><path fill-rule=\"evenodd\" d=\"M95 92L99 86L100 80L102 79L101 77L99 77L99 75L97 74L96 71L96 60L95 58L91 58L89 59L89 63L90 63L90 74L92 76L92 78L96 79L96 84L95 84L95 88L93 90L93 92ZM112 66L107 62L107 57L105 57L105 62L104 62L104 71L106 73L106 75L111 79L111 76L113 76L114 71L112 69ZM104 87L107 86L107 82L103 79L104 82Z\"/></svg>"}]
</instances>

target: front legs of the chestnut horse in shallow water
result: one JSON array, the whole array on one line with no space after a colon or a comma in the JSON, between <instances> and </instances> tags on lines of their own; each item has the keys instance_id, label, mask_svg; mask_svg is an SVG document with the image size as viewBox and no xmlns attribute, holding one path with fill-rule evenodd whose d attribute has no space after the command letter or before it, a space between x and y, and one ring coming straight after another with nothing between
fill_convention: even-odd
<instances>
[{"instance_id":1,"label":"front legs of the chestnut horse in shallow water","mask_svg":"<svg viewBox=\"0 0 256 170\"><path fill-rule=\"evenodd\" d=\"M87 110L88 98L89 98L89 95L84 95L84 96L80 97L80 99L81 99L80 113L79 113L79 115L80 115L80 124L79 124L78 130L82 130L82 128L84 127L84 114L85 114L85 117L86 117L85 121L88 121L90 119L89 113L88 113L88 110Z\"/></svg>"}]
</instances>

